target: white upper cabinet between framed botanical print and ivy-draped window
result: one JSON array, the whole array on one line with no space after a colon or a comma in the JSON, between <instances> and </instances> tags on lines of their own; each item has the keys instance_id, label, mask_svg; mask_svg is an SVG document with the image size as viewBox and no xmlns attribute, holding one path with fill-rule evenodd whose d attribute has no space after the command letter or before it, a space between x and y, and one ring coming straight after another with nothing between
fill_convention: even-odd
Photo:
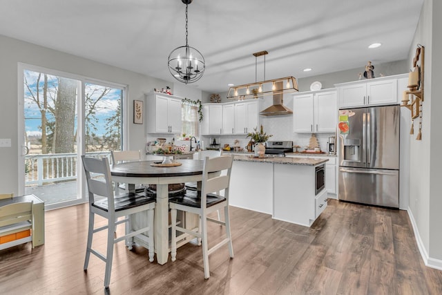
<instances>
[{"instance_id":1,"label":"white upper cabinet between framed botanical print and ivy-draped window","mask_svg":"<svg viewBox=\"0 0 442 295\"><path fill-rule=\"evenodd\" d=\"M147 132L181 133L181 98L162 93L147 95Z\"/></svg>"}]
</instances>

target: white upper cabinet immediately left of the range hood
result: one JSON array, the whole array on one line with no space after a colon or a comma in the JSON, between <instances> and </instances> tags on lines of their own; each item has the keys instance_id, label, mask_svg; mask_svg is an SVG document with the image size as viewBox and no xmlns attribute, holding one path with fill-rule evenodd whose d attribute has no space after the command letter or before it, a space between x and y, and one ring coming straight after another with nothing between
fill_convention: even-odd
<instances>
[{"instance_id":1,"label":"white upper cabinet immediately left of the range hood","mask_svg":"<svg viewBox=\"0 0 442 295\"><path fill-rule=\"evenodd\" d=\"M235 104L235 133L246 134L258 128L258 101L239 102Z\"/></svg>"}]
</instances>

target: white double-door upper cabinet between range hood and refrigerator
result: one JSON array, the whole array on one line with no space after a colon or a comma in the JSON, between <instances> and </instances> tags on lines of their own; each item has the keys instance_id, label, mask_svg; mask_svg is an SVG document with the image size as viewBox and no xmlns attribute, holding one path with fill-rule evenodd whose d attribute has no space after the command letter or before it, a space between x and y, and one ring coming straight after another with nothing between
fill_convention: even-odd
<instances>
[{"instance_id":1,"label":"white double-door upper cabinet between range hood and refrigerator","mask_svg":"<svg viewBox=\"0 0 442 295\"><path fill-rule=\"evenodd\" d=\"M335 132L338 116L336 100L334 90L294 95L294 133Z\"/></svg>"}]
</instances>

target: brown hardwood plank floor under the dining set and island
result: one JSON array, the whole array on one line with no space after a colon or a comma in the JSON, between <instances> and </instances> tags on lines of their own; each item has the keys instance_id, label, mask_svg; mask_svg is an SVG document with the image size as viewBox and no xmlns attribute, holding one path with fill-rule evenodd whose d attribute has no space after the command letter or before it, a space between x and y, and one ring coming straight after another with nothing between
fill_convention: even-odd
<instances>
[{"instance_id":1,"label":"brown hardwood plank floor under the dining set and island","mask_svg":"<svg viewBox=\"0 0 442 295\"><path fill-rule=\"evenodd\" d=\"M87 213L86 204L48 211L45 245L0 251L0 294L102 294L102 260L91 256L83 272ZM109 293L442 294L442 272L423 265L406 211L330 200L307 228L232 207L231 224L235 258L227 246L215 251L209 280L191 243L165 265L117 244ZM209 229L213 245L224 229ZM93 243L104 251L106 237Z\"/></svg>"}]
</instances>

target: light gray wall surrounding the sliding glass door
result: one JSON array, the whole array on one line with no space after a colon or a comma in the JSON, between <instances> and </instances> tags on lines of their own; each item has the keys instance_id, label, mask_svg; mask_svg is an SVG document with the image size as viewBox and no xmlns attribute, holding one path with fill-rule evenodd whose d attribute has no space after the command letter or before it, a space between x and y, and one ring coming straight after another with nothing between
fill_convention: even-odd
<instances>
[{"instance_id":1,"label":"light gray wall surrounding the sliding glass door","mask_svg":"<svg viewBox=\"0 0 442 295\"><path fill-rule=\"evenodd\" d=\"M74 55L61 53L41 46L29 44L17 39L11 39L0 35L0 138L10 138L11 147L0 148L0 193L18 193L19 183L17 180L19 158L18 146L18 93L17 93L17 63L32 64L67 73L83 75L108 82L128 85L129 102L126 104L131 110L134 99L144 100L144 93L153 88L165 88L171 85L152 77L146 77L137 73L100 64L96 61L83 59ZM144 149L146 136L146 123L142 125L130 122L130 149Z\"/></svg>"}]
</instances>

